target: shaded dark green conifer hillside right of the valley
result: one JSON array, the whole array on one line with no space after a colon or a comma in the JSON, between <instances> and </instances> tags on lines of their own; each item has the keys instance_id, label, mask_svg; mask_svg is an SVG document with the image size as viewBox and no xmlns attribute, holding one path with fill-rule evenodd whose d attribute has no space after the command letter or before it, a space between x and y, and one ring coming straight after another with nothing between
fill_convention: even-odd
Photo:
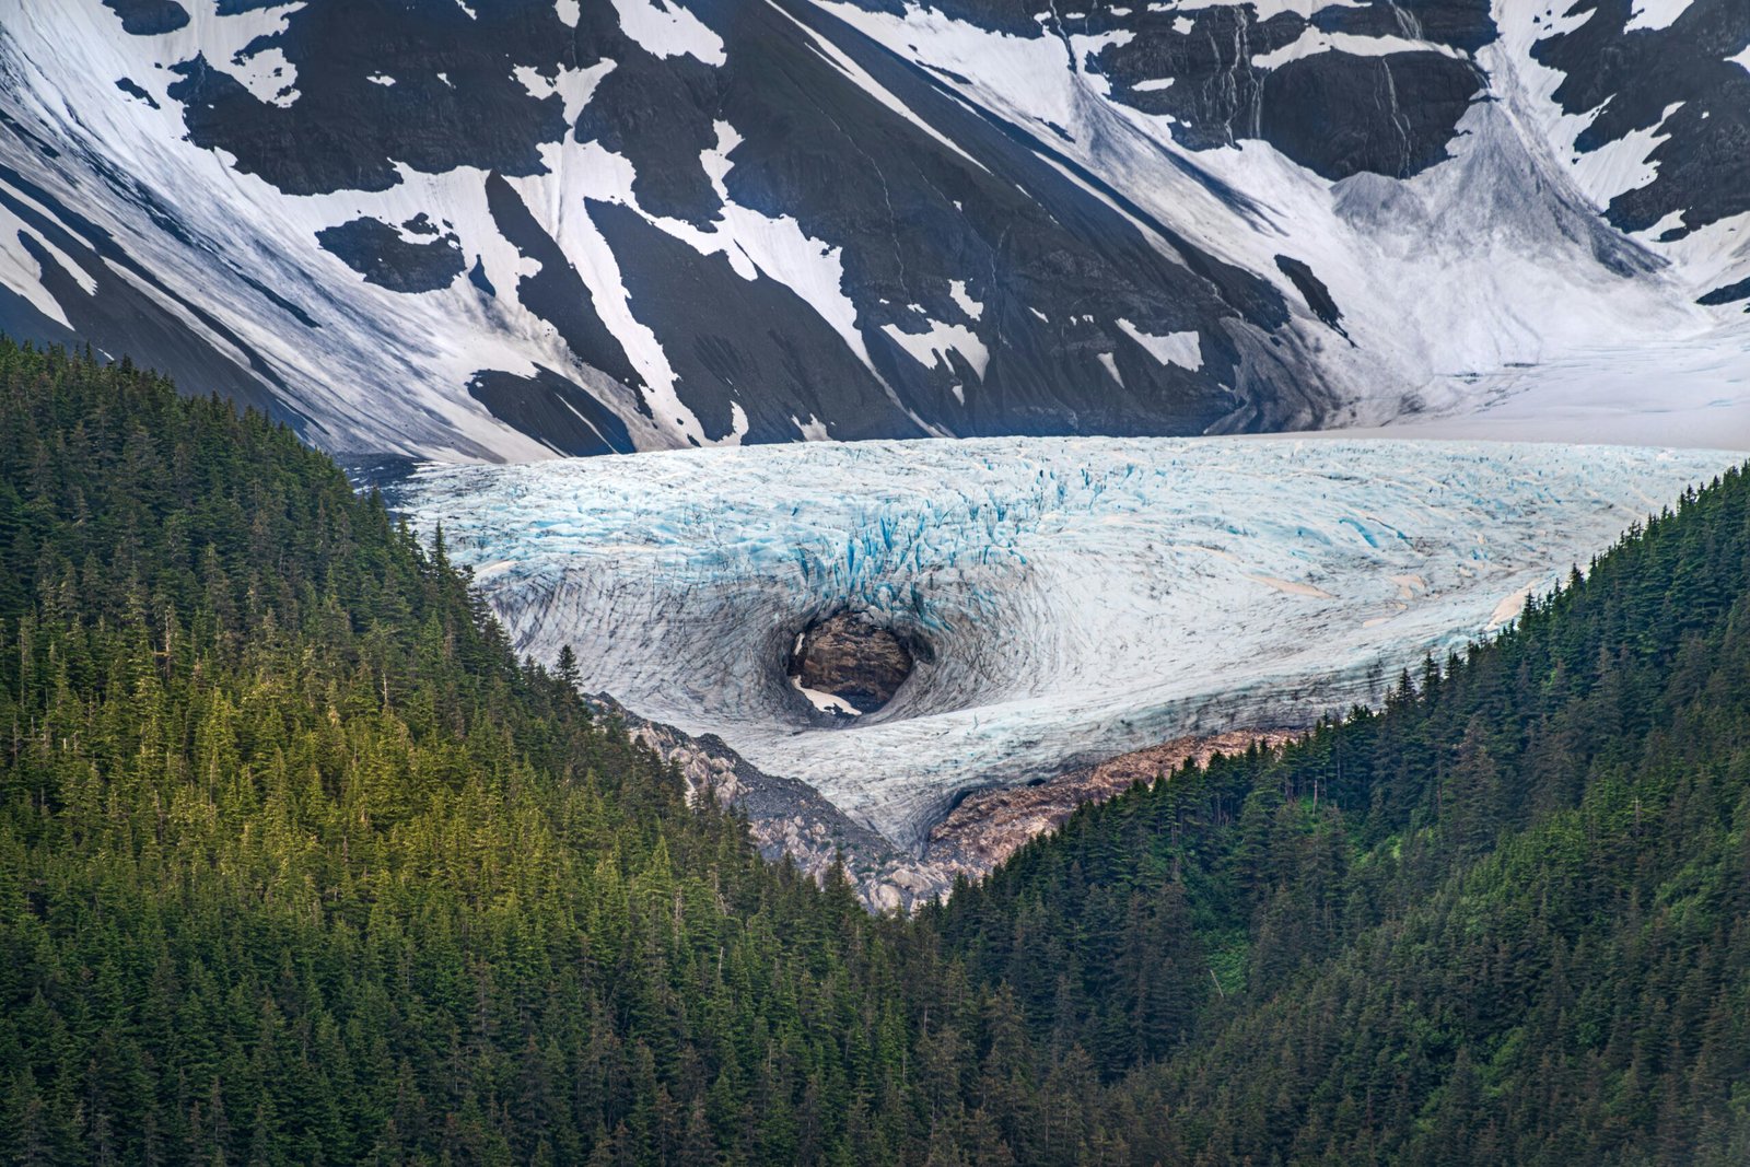
<instances>
[{"instance_id":1,"label":"shaded dark green conifer hillside right of the valley","mask_svg":"<svg viewBox=\"0 0 1750 1167\"><path fill-rule=\"evenodd\" d=\"M1384 710L1083 808L931 924L1120 1080L1141 1162L1750 1162L1746 593L1734 472Z\"/></svg>"}]
</instances>

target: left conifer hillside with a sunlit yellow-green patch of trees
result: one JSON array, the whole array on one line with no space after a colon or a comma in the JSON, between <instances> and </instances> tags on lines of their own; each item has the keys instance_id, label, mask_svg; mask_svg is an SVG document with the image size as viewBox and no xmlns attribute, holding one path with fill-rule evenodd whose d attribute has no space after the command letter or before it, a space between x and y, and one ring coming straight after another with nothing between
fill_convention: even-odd
<instances>
[{"instance_id":1,"label":"left conifer hillside with a sunlit yellow-green patch of trees","mask_svg":"<svg viewBox=\"0 0 1750 1167\"><path fill-rule=\"evenodd\" d=\"M690 812L289 430L0 348L0 1160L819 1162L924 1122L896 929Z\"/></svg>"}]
</instances>

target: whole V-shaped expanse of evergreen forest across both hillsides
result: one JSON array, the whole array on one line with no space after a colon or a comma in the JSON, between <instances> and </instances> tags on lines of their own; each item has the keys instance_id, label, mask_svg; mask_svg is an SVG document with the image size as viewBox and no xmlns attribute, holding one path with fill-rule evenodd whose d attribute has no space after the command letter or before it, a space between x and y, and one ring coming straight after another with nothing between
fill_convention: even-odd
<instances>
[{"instance_id":1,"label":"whole V-shaped expanse of evergreen forest across both hillsides","mask_svg":"<svg viewBox=\"0 0 1750 1167\"><path fill-rule=\"evenodd\" d=\"M1750 478L915 920L284 427L0 345L0 1160L1750 1162Z\"/></svg>"}]
</instances>

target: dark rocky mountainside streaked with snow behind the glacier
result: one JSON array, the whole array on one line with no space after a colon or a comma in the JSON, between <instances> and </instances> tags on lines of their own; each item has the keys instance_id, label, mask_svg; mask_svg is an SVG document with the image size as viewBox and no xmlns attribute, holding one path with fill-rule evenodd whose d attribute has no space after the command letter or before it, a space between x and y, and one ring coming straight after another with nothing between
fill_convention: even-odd
<instances>
[{"instance_id":1,"label":"dark rocky mountainside streaked with snow behind the glacier","mask_svg":"<svg viewBox=\"0 0 1750 1167\"><path fill-rule=\"evenodd\" d=\"M462 460L1536 415L1624 345L1746 444L1746 145L1741 0L0 0L0 327Z\"/></svg>"}]
</instances>

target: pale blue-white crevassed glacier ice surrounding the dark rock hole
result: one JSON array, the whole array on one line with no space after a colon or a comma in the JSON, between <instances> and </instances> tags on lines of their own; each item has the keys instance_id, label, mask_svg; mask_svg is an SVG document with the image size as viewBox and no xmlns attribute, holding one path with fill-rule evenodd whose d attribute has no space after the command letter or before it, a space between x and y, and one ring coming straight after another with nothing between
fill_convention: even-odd
<instances>
[{"instance_id":1,"label":"pale blue-white crevassed glacier ice surrounding the dark rock hole","mask_svg":"<svg viewBox=\"0 0 1750 1167\"><path fill-rule=\"evenodd\" d=\"M1741 455L1736 455L1741 457ZM1374 700L1736 460L1552 444L973 439L429 469L520 651L915 845L956 796ZM919 649L849 726L786 677L868 612Z\"/></svg>"}]
</instances>

